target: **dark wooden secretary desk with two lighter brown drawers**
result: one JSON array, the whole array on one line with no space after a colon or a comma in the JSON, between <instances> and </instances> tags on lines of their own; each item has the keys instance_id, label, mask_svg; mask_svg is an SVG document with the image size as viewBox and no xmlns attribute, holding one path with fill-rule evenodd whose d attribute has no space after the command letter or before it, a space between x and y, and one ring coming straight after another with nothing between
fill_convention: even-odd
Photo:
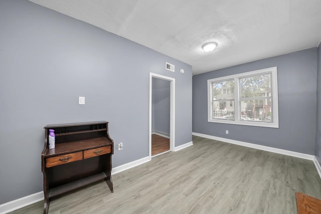
<instances>
[{"instance_id":1,"label":"dark wooden secretary desk with two lighter brown drawers","mask_svg":"<svg viewBox=\"0 0 321 214\"><path fill-rule=\"evenodd\" d=\"M44 175L44 213L48 213L50 198L105 180L113 192L111 155L113 140L108 122L86 122L47 125L45 145L41 153ZM55 130L55 148L49 149L49 129Z\"/></svg>"}]
</instances>

